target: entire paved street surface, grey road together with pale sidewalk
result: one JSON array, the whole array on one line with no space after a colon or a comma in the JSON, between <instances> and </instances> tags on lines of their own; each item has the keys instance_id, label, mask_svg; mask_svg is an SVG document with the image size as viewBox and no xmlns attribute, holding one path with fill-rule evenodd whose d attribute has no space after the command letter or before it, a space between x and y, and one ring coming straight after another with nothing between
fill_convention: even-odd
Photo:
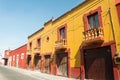
<instances>
[{"instance_id":1,"label":"entire paved street surface, grey road together with pale sidewalk","mask_svg":"<svg viewBox=\"0 0 120 80\"><path fill-rule=\"evenodd\" d=\"M62 76L55 76L15 67L0 65L0 80L77 80ZM78 79L79 80L79 79Z\"/></svg>"}]
</instances>

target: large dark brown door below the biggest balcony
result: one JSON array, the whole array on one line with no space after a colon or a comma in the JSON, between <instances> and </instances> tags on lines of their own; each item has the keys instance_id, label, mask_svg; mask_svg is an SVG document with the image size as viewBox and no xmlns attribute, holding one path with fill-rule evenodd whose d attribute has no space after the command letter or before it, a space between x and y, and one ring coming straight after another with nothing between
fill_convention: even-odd
<instances>
[{"instance_id":1,"label":"large dark brown door below the biggest balcony","mask_svg":"<svg viewBox=\"0 0 120 80\"><path fill-rule=\"evenodd\" d=\"M84 50L85 78L114 80L110 47Z\"/></svg>"}]
</instances>

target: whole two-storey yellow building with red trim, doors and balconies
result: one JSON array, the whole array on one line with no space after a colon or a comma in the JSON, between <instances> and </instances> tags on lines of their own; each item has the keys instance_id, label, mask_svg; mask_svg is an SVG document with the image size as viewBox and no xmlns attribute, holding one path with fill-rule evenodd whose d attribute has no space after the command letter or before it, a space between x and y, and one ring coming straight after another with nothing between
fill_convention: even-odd
<instances>
[{"instance_id":1,"label":"whole two-storey yellow building with red trim, doors and balconies","mask_svg":"<svg viewBox=\"0 0 120 80\"><path fill-rule=\"evenodd\" d=\"M114 0L86 0L28 37L28 64L41 72L120 79L120 26Z\"/></svg>"}]
</instances>

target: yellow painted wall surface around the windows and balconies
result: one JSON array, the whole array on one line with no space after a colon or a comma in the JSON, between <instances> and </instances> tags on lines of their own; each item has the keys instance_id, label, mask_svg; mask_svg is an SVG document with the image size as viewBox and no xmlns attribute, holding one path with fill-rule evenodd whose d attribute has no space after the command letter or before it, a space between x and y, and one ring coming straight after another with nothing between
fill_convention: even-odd
<instances>
[{"instance_id":1,"label":"yellow painted wall surface around the windows and balconies","mask_svg":"<svg viewBox=\"0 0 120 80\"><path fill-rule=\"evenodd\" d=\"M117 49L120 51L120 31L118 24L118 17L116 13L116 8L114 0L88 0L84 4L79 5L78 7L67 12L63 16L59 17L56 20L50 21L48 24L44 25L44 29L39 31L37 34L28 38L28 43L32 42L33 48L36 44L36 39L41 37L41 54L46 54L55 51L55 41L57 41L57 29L61 25L67 24L67 46L70 48L70 66L79 67L80 66L80 46L83 41L84 32L84 22L83 15L95 10L99 6L102 7L102 23L104 28L104 43L113 41L113 32L112 26L110 23L110 17L108 10L110 8L112 15L112 22L114 26L115 39L117 40ZM49 37L49 41L46 38ZM34 52L32 50L32 56Z\"/></svg>"}]
</instances>

